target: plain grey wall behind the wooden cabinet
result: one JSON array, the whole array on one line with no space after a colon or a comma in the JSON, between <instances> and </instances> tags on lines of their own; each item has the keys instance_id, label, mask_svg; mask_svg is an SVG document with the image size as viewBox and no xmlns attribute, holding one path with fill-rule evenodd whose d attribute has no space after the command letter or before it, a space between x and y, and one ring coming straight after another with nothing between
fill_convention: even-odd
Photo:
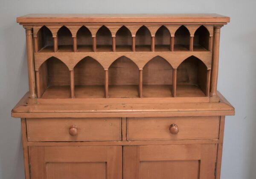
<instances>
[{"instance_id":1,"label":"plain grey wall behind the wooden cabinet","mask_svg":"<svg viewBox=\"0 0 256 179\"><path fill-rule=\"evenodd\" d=\"M28 91L25 30L16 17L29 13L218 13L221 28L218 90L236 108L226 118L221 179L256 178L255 0L1 0L0 179L23 179L20 119L11 109Z\"/></svg>"}]
</instances>

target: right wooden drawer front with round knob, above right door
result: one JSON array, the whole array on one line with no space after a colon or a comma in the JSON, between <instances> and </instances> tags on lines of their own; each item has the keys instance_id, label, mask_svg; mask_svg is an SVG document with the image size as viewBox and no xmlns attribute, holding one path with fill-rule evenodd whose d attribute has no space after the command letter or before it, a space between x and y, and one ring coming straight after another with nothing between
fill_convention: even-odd
<instances>
[{"instance_id":1,"label":"right wooden drawer front with round knob, above right door","mask_svg":"<svg viewBox=\"0 0 256 179\"><path fill-rule=\"evenodd\" d=\"M128 118L127 137L128 140L218 139L219 122L219 116Z\"/></svg>"}]
</instances>

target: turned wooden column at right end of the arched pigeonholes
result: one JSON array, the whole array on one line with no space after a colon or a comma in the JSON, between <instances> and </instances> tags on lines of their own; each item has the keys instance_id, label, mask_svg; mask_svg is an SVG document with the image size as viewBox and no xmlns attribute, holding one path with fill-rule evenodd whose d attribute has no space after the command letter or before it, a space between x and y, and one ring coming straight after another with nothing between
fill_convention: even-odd
<instances>
[{"instance_id":1,"label":"turned wooden column at right end of the arched pigeonholes","mask_svg":"<svg viewBox=\"0 0 256 179\"><path fill-rule=\"evenodd\" d=\"M214 27L210 96L215 96L217 93L220 33L221 33L221 27Z\"/></svg>"}]
</instances>

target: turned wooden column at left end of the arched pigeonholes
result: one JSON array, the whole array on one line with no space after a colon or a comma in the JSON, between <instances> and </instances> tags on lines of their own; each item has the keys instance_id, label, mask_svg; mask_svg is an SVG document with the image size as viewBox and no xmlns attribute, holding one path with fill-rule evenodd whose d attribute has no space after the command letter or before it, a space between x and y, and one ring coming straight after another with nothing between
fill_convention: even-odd
<instances>
[{"instance_id":1,"label":"turned wooden column at left end of the arched pigeonholes","mask_svg":"<svg viewBox=\"0 0 256 179\"><path fill-rule=\"evenodd\" d=\"M36 98L37 96L35 92L35 63L32 28L26 28L26 49L29 75L29 98Z\"/></svg>"}]
</instances>

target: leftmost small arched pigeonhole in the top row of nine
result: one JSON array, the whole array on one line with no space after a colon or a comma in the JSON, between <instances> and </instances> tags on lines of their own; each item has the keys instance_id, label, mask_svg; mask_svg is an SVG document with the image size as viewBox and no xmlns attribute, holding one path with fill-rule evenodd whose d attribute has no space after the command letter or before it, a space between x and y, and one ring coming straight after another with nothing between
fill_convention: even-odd
<instances>
[{"instance_id":1,"label":"leftmost small arched pigeonhole in the top row of nine","mask_svg":"<svg viewBox=\"0 0 256 179\"><path fill-rule=\"evenodd\" d=\"M52 32L46 26L38 31L37 40L38 52L53 52Z\"/></svg>"}]
</instances>

